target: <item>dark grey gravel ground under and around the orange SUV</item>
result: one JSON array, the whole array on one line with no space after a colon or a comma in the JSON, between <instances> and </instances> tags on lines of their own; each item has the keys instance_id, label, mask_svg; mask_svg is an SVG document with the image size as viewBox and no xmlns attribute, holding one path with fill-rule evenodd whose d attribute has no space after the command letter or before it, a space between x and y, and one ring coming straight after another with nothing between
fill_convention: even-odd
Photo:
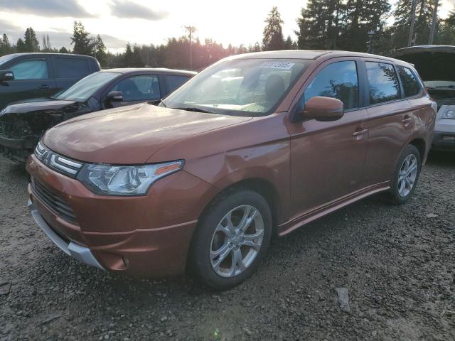
<instances>
[{"instance_id":1,"label":"dark grey gravel ground under and around the orange SUV","mask_svg":"<svg viewBox=\"0 0 455 341\"><path fill-rule=\"evenodd\" d=\"M455 340L454 155L430 157L407 205L370 197L277 239L223 293L70 259L28 215L26 183L0 160L1 341Z\"/></svg>"}]
</instances>

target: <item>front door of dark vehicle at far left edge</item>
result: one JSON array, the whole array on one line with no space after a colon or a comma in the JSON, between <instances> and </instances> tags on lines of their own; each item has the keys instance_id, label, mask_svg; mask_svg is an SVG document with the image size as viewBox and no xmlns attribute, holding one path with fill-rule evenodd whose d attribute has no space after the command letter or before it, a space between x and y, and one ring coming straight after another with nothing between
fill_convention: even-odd
<instances>
[{"instance_id":1,"label":"front door of dark vehicle at far left edge","mask_svg":"<svg viewBox=\"0 0 455 341\"><path fill-rule=\"evenodd\" d=\"M14 72L14 80L0 83L0 107L53 94L55 82L48 58L22 58L6 66L6 69Z\"/></svg>"}]
</instances>

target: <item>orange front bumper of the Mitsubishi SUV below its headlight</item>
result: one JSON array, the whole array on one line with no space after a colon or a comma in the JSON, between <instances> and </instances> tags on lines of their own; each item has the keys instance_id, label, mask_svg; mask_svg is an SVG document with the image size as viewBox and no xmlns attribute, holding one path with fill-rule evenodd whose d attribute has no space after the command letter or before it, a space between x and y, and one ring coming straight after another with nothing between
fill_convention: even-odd
<instances>
[{"instance_id":1,"label":"orange front bumper of the Mitsubishi SUV below its headlight","mask_svg":"<svg viewBox=\"0 0 455 341\"><path fill-rule=\"evenodd\" d=\"M35 216L41 215L50 230L67 240L65 244L73 242L72 249L78 245L90 251L102 269L155 278L185 271L198 216L213 195L208 183L180 171L158 180L145 196L107 197L53 171L33 154L26 168L45 188L44 193L36 193L37 189L28 185L38 211ZM67 210L70 207L75 220L59 215L52 199L56 205L64 202Z\"/></svg>"}]
</instances>

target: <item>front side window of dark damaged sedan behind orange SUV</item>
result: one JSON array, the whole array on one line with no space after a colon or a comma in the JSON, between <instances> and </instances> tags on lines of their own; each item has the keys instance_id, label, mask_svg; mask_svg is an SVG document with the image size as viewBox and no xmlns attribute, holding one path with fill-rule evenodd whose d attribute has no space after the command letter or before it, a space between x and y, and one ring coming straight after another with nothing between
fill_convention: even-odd
<instances>
[{"instance_id":1,"label":"front side window of dark damaged sedan behind orange SUV","mask_svg":"<svg viewBox=\"0 0 455 341\"><path fill-rule=\"evenodd\" d=\"M121 91L124 101L146 101L160 99L159 79L156 75L125 78L111 91Z\"/></svg>"}]
</instances>

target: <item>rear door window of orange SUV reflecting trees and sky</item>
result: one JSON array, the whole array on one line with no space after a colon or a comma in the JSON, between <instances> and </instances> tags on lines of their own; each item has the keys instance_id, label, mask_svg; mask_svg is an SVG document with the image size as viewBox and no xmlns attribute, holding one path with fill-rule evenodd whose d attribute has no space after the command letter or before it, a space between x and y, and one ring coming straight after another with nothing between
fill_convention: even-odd
<instances>
[{"instance_id":1,"label":"rear door window of orange SUV reflecting trees and sky","mask_svg":"<svg viewBox=\"0 0 455 341\"><path fill-rule=\"evenodd\" d=\"M366 62L370 104L400 99L400 83L392 64Z\"/></svg>"}]
</instances>

